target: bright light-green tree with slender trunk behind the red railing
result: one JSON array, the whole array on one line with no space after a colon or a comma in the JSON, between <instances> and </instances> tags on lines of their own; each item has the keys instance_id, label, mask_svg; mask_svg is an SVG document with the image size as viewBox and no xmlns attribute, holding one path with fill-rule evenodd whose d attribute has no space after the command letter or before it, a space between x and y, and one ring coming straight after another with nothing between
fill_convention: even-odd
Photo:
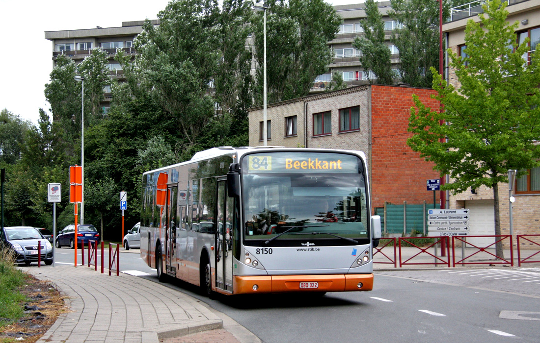
<instances>
[{"instance_id":1,"label":"bright light-green tree with slender trunk behind the red railing","mask_svg":"<svg viewBox=\"0 0 540 343\"><path fill-rule=\"evenodd\" d=\"M415 97L409 123L414 135L407 140L435 162L441 176L453 178L442 189L454 194L481 185L493 189L495 235L501 234L498 183L508 182L509 169L523 175L540 164L540 58L534 54L531 64L523 60L529 38L518 46L518 23L507 22L505 8L500 0L484 4L480 23L469 20L465 29L467 57L449 51L461 84L457 89L431 68L444 111L433 111ZM500 242L496 254L503 256Z\"/></svg>"}]
</instances>

